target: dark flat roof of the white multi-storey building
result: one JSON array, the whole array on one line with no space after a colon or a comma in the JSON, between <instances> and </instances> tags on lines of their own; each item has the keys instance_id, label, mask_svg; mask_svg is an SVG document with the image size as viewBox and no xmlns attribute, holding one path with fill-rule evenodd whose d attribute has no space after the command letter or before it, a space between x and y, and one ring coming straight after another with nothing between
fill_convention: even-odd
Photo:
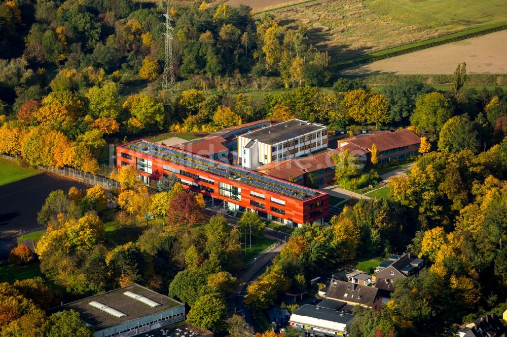
<instances>
[{"instance_id":1,"label":"dark flat roof of the white multi-storey building","mask_svg":"<svg viewBox=\"0 0 507 337\"><path fill-rule=\"evenodd\" d=\"M323 129L326 128L322 124L310 123L301 119L291 119L273 125L272 127L252 131L248 134L241 135L241 137L257 139L261 143L273 145L286 139L301 137L310 132Z\"/></svg>"}]
</instances>

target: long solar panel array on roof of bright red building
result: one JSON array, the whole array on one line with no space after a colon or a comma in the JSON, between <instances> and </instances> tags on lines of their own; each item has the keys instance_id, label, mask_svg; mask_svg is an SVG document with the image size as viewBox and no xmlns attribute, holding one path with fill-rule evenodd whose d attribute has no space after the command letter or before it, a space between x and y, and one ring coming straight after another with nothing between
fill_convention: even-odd
<instances>
[{"instance_id":1,"label":"long solar panel array on roof of bright red building","mask_svg":"<svg viewBox=\"0 0 507 337\"><path fill-rule=\"evenodd\" d=\"M212 161L207 158L198 157L193 154L172 149L159 144L153 144L141 140L136 143L131 143L127 145L127 147L138 152L148 153L154 157L172 161L182 166L193 167L196 170L210 172L212 174L225 178L230 178L231 174L234 176L241 176L239 180L242 182L269 191L285 194L287 196L304 199L306 197L311 197L319 194L319 192L305 188L303 186L265 177L255 172ZM247 179L243 179L244 177Z\"/></svg>"}]
</instances>

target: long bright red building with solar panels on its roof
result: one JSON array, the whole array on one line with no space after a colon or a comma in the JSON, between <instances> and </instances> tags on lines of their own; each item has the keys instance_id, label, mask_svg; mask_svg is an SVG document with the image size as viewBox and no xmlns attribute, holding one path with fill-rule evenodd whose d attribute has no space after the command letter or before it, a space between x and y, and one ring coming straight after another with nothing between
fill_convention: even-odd
<instances>
[{"instance_id":1,"label":"long bright red building with solar panels on its roof","mask_svg":"<svg viewBox=\"0 0 507 337\"><path fill-rule=\"evenodd\" d=\"M182 185L223 201L233 211L256 210L261 217L301 226L328 216L327 193L265 176L180 149L138 140L117 147L117 166L132 165L145 183L174 173Z\"/></svg>"}]
</instances>

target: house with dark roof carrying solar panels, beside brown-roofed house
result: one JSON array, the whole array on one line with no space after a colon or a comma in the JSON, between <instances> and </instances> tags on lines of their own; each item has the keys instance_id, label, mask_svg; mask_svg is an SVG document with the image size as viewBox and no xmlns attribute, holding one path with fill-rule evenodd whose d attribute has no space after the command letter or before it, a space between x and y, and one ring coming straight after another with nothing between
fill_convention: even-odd
<instances>
[{"instance_id":1,"label":"house with dark roof carrying solar panels, beside brown-roofed house","mask_svg":"<svg viewBox=\"0 0 507 337\"><path fill-rule=\"evenodd\" d=\"M395 280L419 276L424 267L424 260L418 259L410 252L401 256L391 255L375 269L375 287L392 292Z\"/></svg>"}]
</instances>

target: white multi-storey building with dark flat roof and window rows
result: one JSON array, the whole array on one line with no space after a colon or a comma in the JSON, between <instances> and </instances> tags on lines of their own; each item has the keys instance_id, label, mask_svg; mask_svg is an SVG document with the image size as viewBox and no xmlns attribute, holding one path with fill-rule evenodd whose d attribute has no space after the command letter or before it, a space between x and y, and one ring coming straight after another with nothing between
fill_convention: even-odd
<instances>
[{"instance_id":1,"label":"white multi-storey building with dark flat roof and window rows","mask_svg":"<svg viewBox=\"0 0 507 337\"><path fill-rule=\"evenodd\" d=\"M327 147L328 129L324 125L291 119L238 136L238 165L253 169Z\"/></svg>"}]
</instances>

